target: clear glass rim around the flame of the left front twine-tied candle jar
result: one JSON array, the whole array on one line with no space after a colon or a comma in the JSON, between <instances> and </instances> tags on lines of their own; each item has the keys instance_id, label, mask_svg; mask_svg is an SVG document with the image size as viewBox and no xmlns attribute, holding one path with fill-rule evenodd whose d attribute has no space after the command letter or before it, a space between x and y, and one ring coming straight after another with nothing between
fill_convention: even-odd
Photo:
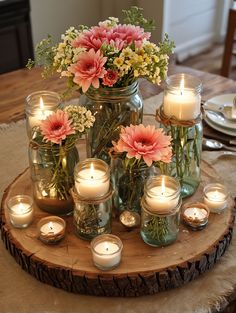
<instances>
[{"instance_id":1,"label":"clear glass rim around the flame of the left front twine-tied candle jar","mask_svg":"<svg viewBox=\"0 0 236 313\"><path fill-rule=\"evenodd\" d=\"M94 181L98 181L98 180L101 180L101 179L110 179L110 168L108 166L108 164L106 162L104 162L103 160L100 160L100 159L96 159L96 158L88 158L84 161L81 161L81 162L78 162L75 166L75 169L74 169L74 176L75 176L75 180L78 179L78 178L82 178L83 180L86 180L86 178L84 176L81 176L80 175L80 171L83 170L83 169L86 169L86 168L90 168L88 167L88 165L91 165L91 163L93 163L95 166L94 166L94 169L104 169L104 173L101 174L101 176L99 176L98 178L93 178ZM98 164L100 167L96 167L96 164ZM89 180L89 178L88 178Z\"/></svg>"}]
</instances>

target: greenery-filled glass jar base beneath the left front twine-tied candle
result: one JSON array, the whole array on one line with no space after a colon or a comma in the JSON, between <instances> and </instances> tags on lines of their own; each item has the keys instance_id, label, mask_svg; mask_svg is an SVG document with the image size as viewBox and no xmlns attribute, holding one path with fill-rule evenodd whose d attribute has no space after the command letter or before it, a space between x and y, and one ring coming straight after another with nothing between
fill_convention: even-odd
<instances>
[{"instance_id":1,"label":"greenery-filled glass jar base beneath the left front twine-tied candle","mask_svg":"<svg viewBox=\"0 0 236 313\"><path fill-rule=\"evenodd\" d=\"M111 233L112 190L99 200L82 200L74 193L75 233L84 240Z\"/></svg>"}]
</instances>

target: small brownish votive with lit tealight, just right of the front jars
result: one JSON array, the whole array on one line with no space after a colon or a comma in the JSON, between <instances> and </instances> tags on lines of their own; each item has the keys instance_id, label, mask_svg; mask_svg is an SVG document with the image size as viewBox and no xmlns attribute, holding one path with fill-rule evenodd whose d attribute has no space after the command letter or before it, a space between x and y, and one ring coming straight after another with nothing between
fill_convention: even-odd
<instances>
[{"instance_id":1,"label":"small brownish votive with lit tealight, just right of the front jars","mask_svg":"<svg viewBox=\"0 0 236 313\"><path fill-rule=\"evenodd\" d=\"M191 202L182 207L182 219L192 230L201 230L208 223L210 210L204 203Z\"/></svg>"}]
</instances>

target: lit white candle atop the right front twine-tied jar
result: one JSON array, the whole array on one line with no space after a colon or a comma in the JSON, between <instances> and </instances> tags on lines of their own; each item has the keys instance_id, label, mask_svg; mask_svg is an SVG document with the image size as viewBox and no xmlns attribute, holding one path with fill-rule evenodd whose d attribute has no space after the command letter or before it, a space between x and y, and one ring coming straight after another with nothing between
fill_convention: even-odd
<instances>
[{"instance_id":1,"label":"lit white candle atop the right front twine-tied jar","mask_svg":"<svg viewBox=\"0 0 236 313\"><path fill-rule=\"evenodd\" d=\"M173 178L161 175L158 179L154 178L154 184L148 187L146 185L146 202L149 211L153 213L164 213L174 209L180 196L180 186L176 182L173 184ZM172 182L170 186L166 186L167 182Z\"/></svg>"}]
</instances>

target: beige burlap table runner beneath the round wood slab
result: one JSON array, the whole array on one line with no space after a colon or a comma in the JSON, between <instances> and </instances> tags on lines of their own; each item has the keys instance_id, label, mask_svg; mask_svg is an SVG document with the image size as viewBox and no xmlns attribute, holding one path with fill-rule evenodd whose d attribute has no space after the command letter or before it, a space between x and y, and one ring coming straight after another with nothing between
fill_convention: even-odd
<instances>
[{"instance_id":1,"label":"beige burlap table runner beneath the round wood slab","mask_svg":"<svg viewBox=\"0 0 236 313\"><path fill-rule=\"evenodd\" d=\"M145 101L145 111L160 96ZM150 113L150 112L148 112ZM25 122L0 125L0 192L27 166ZM236 157L204 152L204 166L215 169L236 196ZM217 178L216 178L217 179ZM0 241L1 313L205 313L217 312L228 303L236 287L236 232L225 255L214 266L186 286L140 298L105 298L76 295L37 281L24 272Z\"/></svg>"}]
</instances>

